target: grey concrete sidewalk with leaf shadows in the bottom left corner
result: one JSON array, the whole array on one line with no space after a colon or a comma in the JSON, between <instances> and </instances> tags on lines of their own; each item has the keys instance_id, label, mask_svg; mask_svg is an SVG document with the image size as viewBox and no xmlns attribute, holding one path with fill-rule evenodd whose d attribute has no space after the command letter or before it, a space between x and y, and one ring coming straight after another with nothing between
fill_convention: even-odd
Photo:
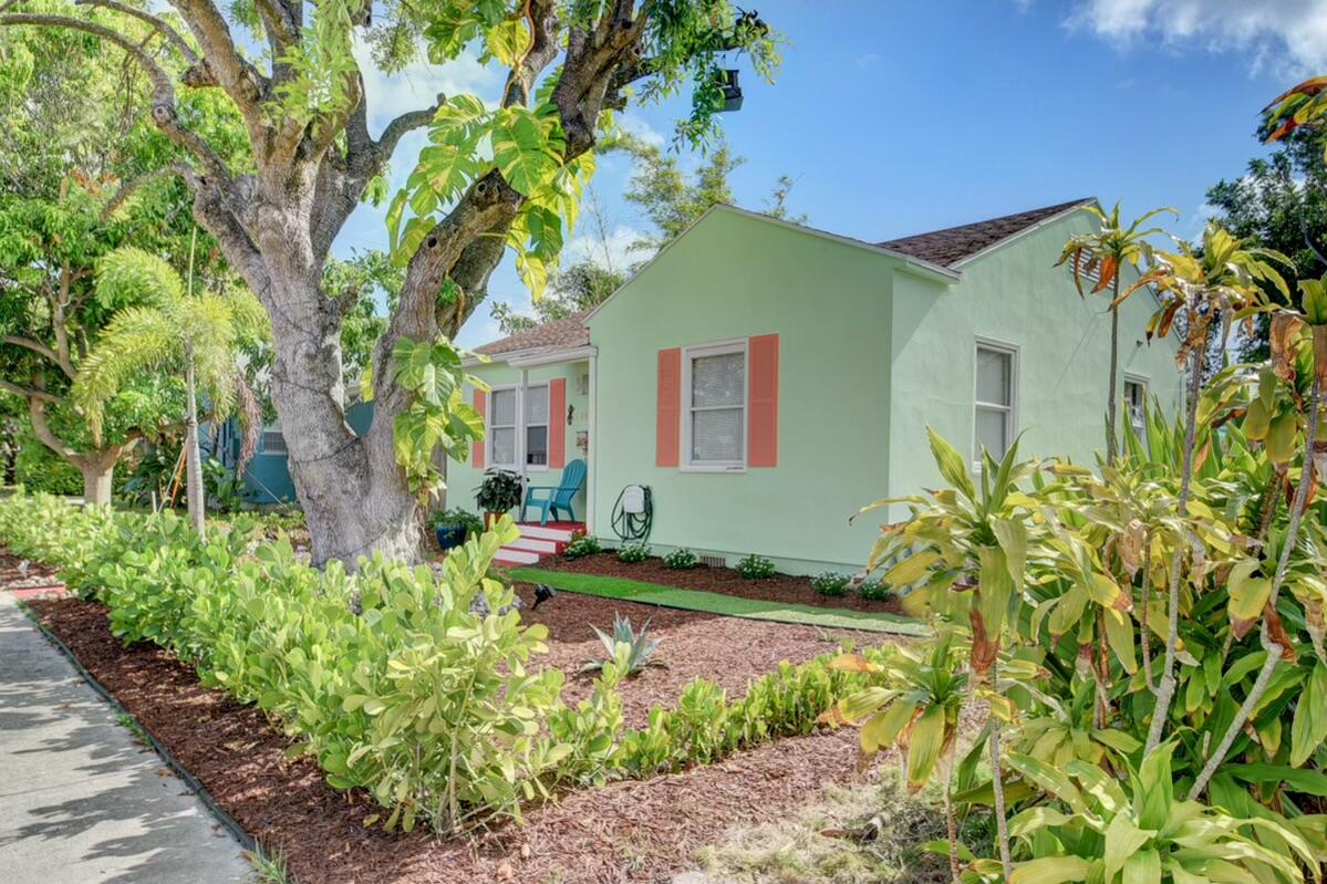
<instances>
[{"instance_id":1,"label":"grey concrete sidewalk with leaf shadows in the bottom left corner","mask_svg":"<svg viewBox=\"0 0 1327 884\"><path fill-rule=\"evenodd\" d=\"M0 880L252 881L239 843L0 592Z\"/></svg>"}]
</instances>

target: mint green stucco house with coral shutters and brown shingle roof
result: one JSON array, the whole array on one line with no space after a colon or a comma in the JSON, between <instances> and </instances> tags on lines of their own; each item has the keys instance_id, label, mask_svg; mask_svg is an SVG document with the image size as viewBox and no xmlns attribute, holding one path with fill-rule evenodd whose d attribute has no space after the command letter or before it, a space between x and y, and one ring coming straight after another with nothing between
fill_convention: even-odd
<instances>
[{"instance_id":1,"label":"mint green stucco house with coral shutters and brown shingle roof","mask_svg":"<svg viewBox=\"0 0 1327 884\"><path fill-rule=\"evenodd\" d=\"M583 459L575 519L605 542L640 484L654 551L805 573L860 567L905 510L849 516L940 482L928 425L974 465L1020 431L1027 454L1092 463L1108 301L1054 267L1091 230L1088 202L882 243L718 206L596 309L479 348L488 433L449 465L449 503L472 508L490 467L556 486ZM1174 346L1144 336L1154 307L1140 292L1121 308L1120 389L1174 409ZM552 552L567 530L532 526L503 560Z\"/></svg>"}]
</instances>

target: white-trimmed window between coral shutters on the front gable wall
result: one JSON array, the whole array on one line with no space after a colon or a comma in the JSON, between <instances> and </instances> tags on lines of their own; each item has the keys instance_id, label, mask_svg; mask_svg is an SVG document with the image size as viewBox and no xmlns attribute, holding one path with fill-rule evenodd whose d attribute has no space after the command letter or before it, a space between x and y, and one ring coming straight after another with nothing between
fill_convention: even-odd
<instances>
[{"instance_id":1,"label":"white-trimmed window between coral shutters on the front gable wall","mask_svg":"<svg viewBox=\"0 0 1327 884\"><path fill-rule=\"evenodd\" d=\"M694 470L746 467L746 341L685 350L685 466Z\"/></svg>"}]
</instances>

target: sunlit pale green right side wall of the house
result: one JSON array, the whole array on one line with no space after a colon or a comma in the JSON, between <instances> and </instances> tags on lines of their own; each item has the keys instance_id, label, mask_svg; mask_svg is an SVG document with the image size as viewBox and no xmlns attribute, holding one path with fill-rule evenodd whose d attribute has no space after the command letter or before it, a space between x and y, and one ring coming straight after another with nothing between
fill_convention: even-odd
<instances>
[{"instance_id":1,"label":"sunlit pale green right side wall of the house","mask_svg":"<svg viewBox=\"0 0 1327 884\"><path fill-rule=\"evenodd\" d=\"M934 487L940 471L926 443L934 427L973 457L973 393L977 337L1018 348L1018 427L1023 455L1067 455L1096 465L1105 450L1109 296L1079 297L1072 277L1054 267L1064 242L1092 228L1074 212L959 267L962 279L938 287L898 275L892 316L892 495ZM1136 276L1135 276L1136 279ZM1124 374L1148 381L1149 394L1176 410L1182 378L1170 340L1147 342L1156 299L1140 291L1120 308L1119 393ZM901 519L905 506L890 507Z\"/></svg>"}]
</instances>

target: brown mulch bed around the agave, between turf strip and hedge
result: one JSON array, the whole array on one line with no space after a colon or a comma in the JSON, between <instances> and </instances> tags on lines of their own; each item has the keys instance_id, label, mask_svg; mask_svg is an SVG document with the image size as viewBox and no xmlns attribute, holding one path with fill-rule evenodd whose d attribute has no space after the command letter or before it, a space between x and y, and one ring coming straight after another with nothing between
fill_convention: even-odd
<instances>
[{"instance_id":1,"label":"brown mulch bed around the agave, between turf strip and hedge","mask_svg":"<svg viewBox=\"0 0 1327 884\"><path fill-rule=\"evenodd\" d=\"M857 646L888 640L878 633L740 620L572 592L560 592L531 609L533 587L518 584L518 592L527 604L522 619L548 626L548 654L539 658L539 665L557 666L567 673L563 698L572 705L593 690L594 673L577 674L579 670L588 660L606 656L591 625L612 634L613 617L618 613L629 619L637 632L649 623L648 634L660 640L653 660L664 665L649 666L621 685L628 727L645 726L653 706L675 706L682 689L698 676L718 682L735 700L746 693L747 682L778 669L783 660L804 662L836 650L844 638Z\"/></svg>"}]
</instances>

